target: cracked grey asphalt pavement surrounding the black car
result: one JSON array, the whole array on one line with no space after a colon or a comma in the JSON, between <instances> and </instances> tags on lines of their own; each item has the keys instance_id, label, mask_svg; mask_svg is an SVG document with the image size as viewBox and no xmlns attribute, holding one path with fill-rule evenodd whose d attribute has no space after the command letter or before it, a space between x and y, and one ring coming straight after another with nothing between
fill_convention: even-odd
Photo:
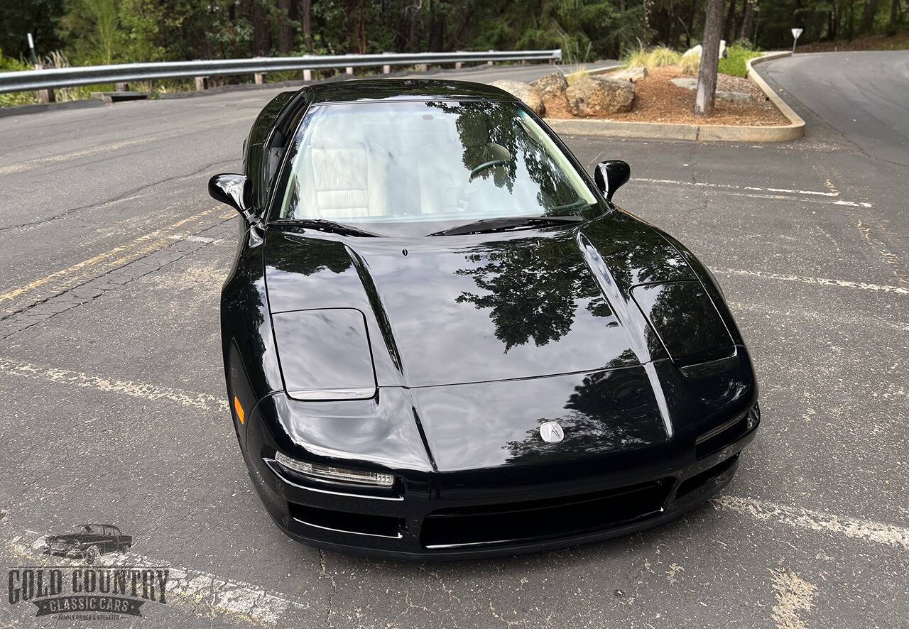
<instances>
[{"instance_id":1,"label":"cracked grey asphalt pavement surrounding the black car","mask_svg":"<svg viewBox=\"0 0 909 629\"><path fill-rule=\"evenodd\" d=\"M110 626L909 626L909 152L813 101L824 70L879 84L906 54L875 75L854 59L764 65L808 123L794 143L565 137L585 165L628 161L616 200L714 270L764 422L734 482L674 523L480 562L320 553L250 484L218 344L237 219L205 181L239 168L275 89L0 118L0 563L119 524L122 561L172 586ZM26 606L0 625L34 626Z\"/></svg>"}]
</instances>

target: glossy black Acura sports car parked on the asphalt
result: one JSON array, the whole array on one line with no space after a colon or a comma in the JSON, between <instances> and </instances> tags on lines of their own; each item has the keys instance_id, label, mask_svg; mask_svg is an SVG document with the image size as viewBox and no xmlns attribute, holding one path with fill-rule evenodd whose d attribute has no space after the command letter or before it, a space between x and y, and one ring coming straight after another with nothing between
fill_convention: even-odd
<instances>
[{"instance_id":1,"label":"glossy black Acura sports car parked on the asphalt","mask_svg":"<svg viewBox=\"0 0 909 629\"><path fill-rule=\"evenodd\" d=\"M275 97L222 293L227 393L291 537L408 558L626 534L731 479L760 418L723 294L512 95L354 81Z\"/></svg>"}]
</instances>

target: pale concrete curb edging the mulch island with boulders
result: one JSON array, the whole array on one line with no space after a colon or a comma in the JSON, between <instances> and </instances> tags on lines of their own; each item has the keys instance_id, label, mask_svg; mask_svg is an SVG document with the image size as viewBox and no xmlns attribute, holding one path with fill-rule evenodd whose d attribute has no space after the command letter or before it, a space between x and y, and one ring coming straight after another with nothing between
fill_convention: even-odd
<instances>
[{"instance_id":1,"label":"pale concrete curb edging the mulch island with boulders","mask_svg":"<svg viewBox=\"0 0 909 629\"><path fill-rule=\"evenodd\" d=\"M564 120L546 118L546 124L556 133L571 135L600 135L604 137L639 137L660 140L703 140L731 142L787 142L804 136L804 120L786 105L766 81L758 75L753 64L789 56L792 53L766 53L749 59L747 76L761 88L767 98L789 119L788 125L674 125L665 123L625 123L616 120Z\"/></svg>"}]
</instances>

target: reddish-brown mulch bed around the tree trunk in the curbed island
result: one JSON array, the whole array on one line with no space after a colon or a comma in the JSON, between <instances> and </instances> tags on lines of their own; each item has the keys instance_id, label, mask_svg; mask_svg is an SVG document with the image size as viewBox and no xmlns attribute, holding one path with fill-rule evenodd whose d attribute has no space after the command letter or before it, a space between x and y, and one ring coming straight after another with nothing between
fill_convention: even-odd
<instances>
[{"instance_id":1,"label":"reddish-brown mulch bed around the tree trunk in the curbed island","mask_svg":"<svg viewBox=\"0 0 909 629\"><path fill-rule=\"evenodd\" d=\"M632 110L625 114L606 116L605 120L640 123L682 123L689 125L788 125L789 120L780 113L776 106L767 100L764 92L751 81L738 76L719 75L717 89L724 92L744 92L753 95L751 101L744 103L724 101L717 98L714 115L708 118L695 118L694 90L685 89L669 83L684 75L677 65L667 65L654 69L647 78L634 86L634 103ZM550 118L572 119L568 104L546 103L546 116Z\"/></svg>"}]
</instances>

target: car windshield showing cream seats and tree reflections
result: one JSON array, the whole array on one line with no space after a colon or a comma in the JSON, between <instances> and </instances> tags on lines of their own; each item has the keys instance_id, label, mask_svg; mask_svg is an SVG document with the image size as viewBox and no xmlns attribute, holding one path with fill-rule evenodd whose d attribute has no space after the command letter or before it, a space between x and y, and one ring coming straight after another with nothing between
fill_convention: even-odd
<instances>
[{"instance_id":1,"label":"car windshield showing cream seats and tree reflections","mask_svg":"<svg viewBox=\"0 0 909 629\"><path fill-rule=\"evenodd\" d=\"M282 219L415 224L428 233L430 222L580 214L597 203L514 103L318 105L293 151Z\"/></svg>"}]
</instances>

